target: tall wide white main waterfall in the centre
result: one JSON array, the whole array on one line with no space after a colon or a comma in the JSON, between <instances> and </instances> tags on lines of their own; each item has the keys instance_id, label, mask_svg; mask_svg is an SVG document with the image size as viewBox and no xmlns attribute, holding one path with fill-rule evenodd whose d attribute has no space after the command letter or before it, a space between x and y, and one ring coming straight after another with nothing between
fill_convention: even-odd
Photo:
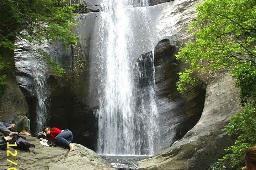
<instances>
[{"instance_id":1,"label":"tall wide white main waterfall in the centre","mask_svg":"<svg viewBox=\"0 0 256 170\"><path fill-rule=\"evenodd\" d=\"M148 2L103 0L101 6L93 49L99 101L97 152L153 155L158 112Z\"/></svg>"}]
</instances>

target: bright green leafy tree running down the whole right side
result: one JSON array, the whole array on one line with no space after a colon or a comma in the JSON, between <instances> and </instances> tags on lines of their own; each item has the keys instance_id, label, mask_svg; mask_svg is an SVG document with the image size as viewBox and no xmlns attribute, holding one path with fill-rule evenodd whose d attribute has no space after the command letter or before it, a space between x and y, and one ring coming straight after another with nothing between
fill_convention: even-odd
<instances>
[{"instance_id":1,"label":"bright green leafy tree running down the whole right side","mask_svg":"<svg viewBox=\"0 0 256 170\"><path fill-rule=\"evenodd\" d=\"M198 73L231 70L244 109L225 128L229 135L240 133L222 159L231 159L234 167L242 160L243 151L256 144L256 1L205 0L196 10L196 21L188 30L194 40L176 55L189 65L180 73L177 90L183 92L194 84Z\"/></svg>"}]
</instances>

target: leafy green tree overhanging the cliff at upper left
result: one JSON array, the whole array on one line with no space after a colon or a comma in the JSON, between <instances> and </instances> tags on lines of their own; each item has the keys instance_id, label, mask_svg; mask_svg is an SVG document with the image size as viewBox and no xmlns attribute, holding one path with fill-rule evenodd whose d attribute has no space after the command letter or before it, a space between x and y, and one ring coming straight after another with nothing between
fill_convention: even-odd
<instances>
[{"instance_id":1,"label":"leafy green tree overhanging the cliff at upper left","mask_svg":"<svg viewBox=\"0 0 256 170\"><path fill-rule=\"evenodd\" d=\"M19 38L32 44L61 40L66 48L75 45L77 36L71 32L71 27L76 24L74 7L65 5L65 0L4 0L0 5L0 56L4 58L6 50L13 53ZM46 53L38 51L38 54L57 74L63 72ZM0 69L2 66L1 62ZM4 75L0 74L1 94L4 86Z\"/></svg>"}]
</instances>

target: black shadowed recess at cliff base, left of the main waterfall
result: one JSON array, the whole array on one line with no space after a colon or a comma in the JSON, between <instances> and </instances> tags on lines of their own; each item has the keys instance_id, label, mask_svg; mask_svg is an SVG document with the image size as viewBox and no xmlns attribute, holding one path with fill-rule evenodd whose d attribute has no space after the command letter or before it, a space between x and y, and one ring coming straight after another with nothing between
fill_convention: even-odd
<instances>
[{"instance_id":1,"label":"black shadowed recess at cliff base, left of the main waterfall","mask_svg":"<svg viewBox=\"0 0 256 170\"><path fill-rule=\"evenodd\" d=\"M73 133L74 142L96 150L98 121L94 110L74 96L70 86L59 86L52 80L53 90L48 125L60 129L70 129ZM58 90L59 89L59 90ZM65 92L65 93L64 93Z\"/></svg>"}]
</instances>

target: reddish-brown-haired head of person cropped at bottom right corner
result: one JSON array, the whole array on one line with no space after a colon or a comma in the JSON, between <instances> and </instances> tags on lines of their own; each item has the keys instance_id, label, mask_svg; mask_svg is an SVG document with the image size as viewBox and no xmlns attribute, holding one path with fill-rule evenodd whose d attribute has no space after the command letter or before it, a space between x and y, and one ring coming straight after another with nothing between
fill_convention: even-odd
<instances>
[{"instance_id":1,"label":"reddish-brown-haired head of person cropped at bottom right corner","mask_svg":"<svg viewBox=\"0 0 256 170\"><path fill-rule=\"evenodd\" d=\"M256 170L256 146L248 149L244 158L247 170Z\"/></svg>"}]
</instances>

